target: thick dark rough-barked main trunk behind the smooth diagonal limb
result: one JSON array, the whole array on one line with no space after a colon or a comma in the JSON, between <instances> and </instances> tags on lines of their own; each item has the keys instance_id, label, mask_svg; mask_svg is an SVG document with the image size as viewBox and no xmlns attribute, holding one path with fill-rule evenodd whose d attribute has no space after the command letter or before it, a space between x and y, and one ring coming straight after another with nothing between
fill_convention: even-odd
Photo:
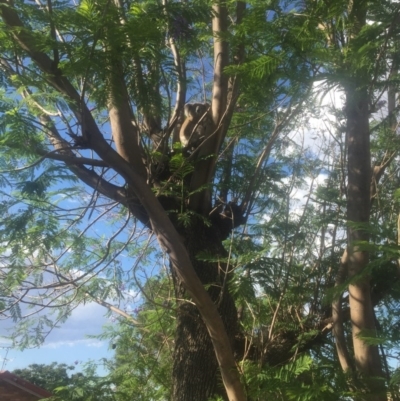
<instances>
[{"instance_id":1,"label":"thick dark rough-barked main trunk behind the smooth diagonal limb","mask_svg":"<svg viewBox=\"0 0 400 401\"><path fill-rule=\"evenodd\" d=\"M217 227L205 227L202 221L180 230L192 264L206 286L225 324L231 346L237 333L237 312L227 289L226 251ZM213 261L199 260L212 258ZM216 260L222 258L220 263ZM179 279L174 277L179 302L173 366L173 401L206 401L226 392L222 385L210 335L195 305L187 298ZM225 284L225 285L224 285Z\"/></svg>"}]
</instances>

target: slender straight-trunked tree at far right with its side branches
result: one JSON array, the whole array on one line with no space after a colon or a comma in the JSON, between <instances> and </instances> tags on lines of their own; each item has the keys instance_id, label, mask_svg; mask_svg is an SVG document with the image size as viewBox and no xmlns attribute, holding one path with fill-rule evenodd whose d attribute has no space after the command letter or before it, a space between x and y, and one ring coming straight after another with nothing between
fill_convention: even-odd
<instances>
[{"instance_id":1,"label":"slender straight-trunked tree at far right with its side branches","mask_svg":"<svg viewBox=\"0 0 400 401\"><path fill-rule=\"evenodd\" d=\"M338 272L337 284L342 284L346 278L349 280L354 361L343 336L340 299L333 304L334 335L343 370L368 378L364 383L368 389L368 399L385 400L386 389L378 343L372 340L377 338L377 327L371 295L371 276L367 266L371 205L377 196L379 180L395 153L387 153L372 163L370 119L386 93L388 101L384 119L390 121L386 126L386 135L393 135L396 131L395 94L391 78L397 73L397 61L390 56L390 48L397 39L392 29L393 16L386 12L396 10L397 13L398 9L387 3L380 13L376 13L373 6L372 10L369 9L370 5L363 1L349 3L346 9L339 11L338 8L321 3L321 15L335 15L335 18L324 20L319 26L326 35L330 51L338 56L328 79L340 85L345 97L343 114L346 121L348 227L347 248L341 258L342 266ZM337 21L342 18L345 24L339 27ZM376 40L368 46L372 37Z\"/></svg>"}]
</instances>

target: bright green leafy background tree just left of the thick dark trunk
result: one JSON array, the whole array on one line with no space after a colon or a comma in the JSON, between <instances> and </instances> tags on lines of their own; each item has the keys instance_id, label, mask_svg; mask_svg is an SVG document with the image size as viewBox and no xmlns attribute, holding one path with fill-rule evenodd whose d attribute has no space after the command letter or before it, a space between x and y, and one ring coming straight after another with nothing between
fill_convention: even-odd
<instances>
[{"instance_id":1,"label":"bright green leafy background tree just left of the thick dark trunk","mask_svg":"<svg viewBox=\"0 0 400 401\"><path fill-rule=\"evenodd\" d=\"M118 401L128 401L132 394L138 401L171 399L176 324L170 287L165 277L148 280L144 288L148 299L136 315L139 327L120 319L100 336L115 349L108 377Z\"/></svg>"}]
</instances>

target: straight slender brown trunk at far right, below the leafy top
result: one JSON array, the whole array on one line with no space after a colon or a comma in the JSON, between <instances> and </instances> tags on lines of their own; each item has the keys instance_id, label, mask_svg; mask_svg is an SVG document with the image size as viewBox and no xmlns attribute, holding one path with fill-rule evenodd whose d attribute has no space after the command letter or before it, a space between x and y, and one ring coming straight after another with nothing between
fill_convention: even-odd
<instances>
[{"instance_id":1,"label":"straight slender brown trunk at far right, below the leafy top","mask_svg":"<svg viewBox=\"0 0 400 401\"><path fill-rule=\"evenodd\" d=\"M348 142L348 275L350 318L354 359L357 371L365 379L365 400L386 400L378 347L367 344L363 337L375 337L375 318L371 301L370 278L363 274L369 256L360 242L369 241L371 155L369 132L369 101L366 90L354 85L346 91ZM358 276L358 277L357 277Z\"/></svg>"}]
</instances>

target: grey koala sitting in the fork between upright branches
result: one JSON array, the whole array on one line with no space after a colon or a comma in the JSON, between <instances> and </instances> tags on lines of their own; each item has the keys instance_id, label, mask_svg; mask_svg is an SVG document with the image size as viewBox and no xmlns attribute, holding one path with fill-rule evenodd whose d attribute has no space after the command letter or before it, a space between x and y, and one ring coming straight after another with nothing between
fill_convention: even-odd
<instances>
[{"instance_id":1,"label":"grey koala sitting in the fork between upright branches","mask_svg":"<svg viewBox=\"0 0 400 401\"><path fill-rule=\"evenodd\" d=\"M208 103L185 104L186 120L179 131L179 139L185 148L196 148L205 139L211 124Z\"/></svg>"}]
</instances>

